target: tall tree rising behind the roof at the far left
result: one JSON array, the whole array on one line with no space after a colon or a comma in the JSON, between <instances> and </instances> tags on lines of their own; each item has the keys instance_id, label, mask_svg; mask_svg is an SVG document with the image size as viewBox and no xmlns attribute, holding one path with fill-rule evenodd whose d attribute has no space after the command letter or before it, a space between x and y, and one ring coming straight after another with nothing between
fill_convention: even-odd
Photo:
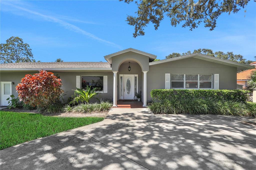
<instances>
[{"instance_id":1,"label":"tall tree rising behind the roof at the far left","mask_svg":"<svg viewBox=\"0 0 256 170\"><path fill-rule=\"evenodd\" d=\"M19 37L10 37L0 48L1 63L36 62L29 45Z\"/></svg>"}]
</instances>

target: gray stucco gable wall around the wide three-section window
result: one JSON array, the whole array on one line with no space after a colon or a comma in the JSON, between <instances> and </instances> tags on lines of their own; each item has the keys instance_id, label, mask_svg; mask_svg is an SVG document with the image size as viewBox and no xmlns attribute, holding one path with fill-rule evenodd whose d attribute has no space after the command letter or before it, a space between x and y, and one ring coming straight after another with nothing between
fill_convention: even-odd
<instances>
[{"instance_id":1,"label":"gray stucco gable wall around the wide three-section window","mask_svg":"<svg viewBox=\"0 0 256 170\"><path fill-rule=\"evenodd\" d=\"M197 58L187 58L149 66L147 72L148 100L151 100L150 91L152 89L165 89L165 73L219 74L219 89L237 89L237 68ZM214 76L212 83L214 88Z\"/></svg>"}]
</instances>

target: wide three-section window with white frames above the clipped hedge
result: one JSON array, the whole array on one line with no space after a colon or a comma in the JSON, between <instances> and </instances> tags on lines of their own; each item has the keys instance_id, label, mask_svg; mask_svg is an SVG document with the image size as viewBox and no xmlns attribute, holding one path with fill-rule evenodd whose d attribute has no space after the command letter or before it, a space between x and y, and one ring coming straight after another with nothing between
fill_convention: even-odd
<instances>
[{"instance_id":1,"label":"wide three-section window with white frames above the clipped hedge","mask_svg":"<svg viewBox=\"0 0 256 170\"><path fill-rule=\"evenodd\" d=\"M211 74L172 74L171 88L211 89Z\"/></svg>"}]
</instances>

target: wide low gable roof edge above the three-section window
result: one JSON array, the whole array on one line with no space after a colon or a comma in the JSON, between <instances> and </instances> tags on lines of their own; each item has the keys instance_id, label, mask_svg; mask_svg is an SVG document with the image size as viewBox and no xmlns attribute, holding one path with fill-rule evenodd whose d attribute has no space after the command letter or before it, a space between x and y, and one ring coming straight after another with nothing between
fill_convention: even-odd
<instances>
[{"instance_id":1,"label":"wide low gable roof edge above the three-section window","mask_svg":"<svg viewBox=\"0 0 256 170\"><path fill-rule=\"evenodd\" d=\"M221 59L221 58L217 58L217 57L212 57L212 56L201 54L201 53L194 53L194 54L188 54L188 55L183 55L183 56L174 57L174 58L163 59L163 60L159 60L156 62L151 62L151 63L149 63L149 65L151 66L151 65L156 65L156 64L166 63L166 62L172 62L172 61L190 58L190 57L206 60L209 62L224 64L224 65L228 65L228 66L232 66L232 67L237 67L238 70L254 68L254 66L250 66L247 64L237 63L237 62L233 62L233 61L229 61L229 60L225 60L225 59Z\"/></svg>"}]
</instances>

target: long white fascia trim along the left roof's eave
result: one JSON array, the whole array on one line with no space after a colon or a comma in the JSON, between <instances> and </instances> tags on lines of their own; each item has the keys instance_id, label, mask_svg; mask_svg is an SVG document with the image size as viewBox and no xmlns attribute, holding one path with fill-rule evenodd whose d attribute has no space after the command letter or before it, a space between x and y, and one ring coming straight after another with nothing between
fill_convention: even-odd
<instances>
[{"instance_id":1,"label":"long white fascia trim along the left roof's eave","mask_svg":"<svg viewBox=\"0 0 256 170\"><path fill-rule=\"evenodd\" d=\"M112 70L112 68L0 68L1 71L23 71L23 70Z\"/></svg>"}]
</instances>

